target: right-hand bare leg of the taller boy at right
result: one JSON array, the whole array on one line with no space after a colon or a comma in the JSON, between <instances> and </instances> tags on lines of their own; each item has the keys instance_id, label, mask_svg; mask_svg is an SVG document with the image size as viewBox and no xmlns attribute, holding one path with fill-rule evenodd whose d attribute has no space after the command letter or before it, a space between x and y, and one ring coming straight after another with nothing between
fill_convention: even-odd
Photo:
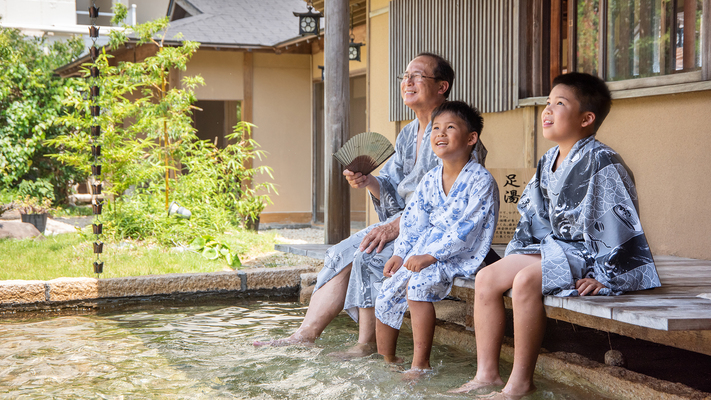
<instances>
[{"instance_id":1,"label":"right-hand bare leg of the taller boy at right","mask_svg":"<svg viewBox=\"0 0 711 400\"><path fill-rule=\"evenodd\" d=\"M514 279L514 366L503 390L507 395L523 396L536 389L533 373L546 330L541 280L540 261L524 268Z\"/></svg>"}]
</instances>

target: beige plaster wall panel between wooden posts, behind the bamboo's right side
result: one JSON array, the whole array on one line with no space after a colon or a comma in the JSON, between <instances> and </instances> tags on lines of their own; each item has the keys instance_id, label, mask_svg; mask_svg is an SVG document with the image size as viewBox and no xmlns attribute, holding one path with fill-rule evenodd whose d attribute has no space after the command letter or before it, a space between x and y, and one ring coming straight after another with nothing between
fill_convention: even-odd
<instances>
[{"instance_id":1,"label":"beige plaster wall panel between wooden posts, behind the bamboo's right side","mask_svg":"<svg viewBox=\"0 0 711 400\"><path fill-rule=\"evenodd\" d=\"M254 139L267 151L279 195L268 213L311 213L311 56L254 54Z\"/></svg>"}]
</instances>

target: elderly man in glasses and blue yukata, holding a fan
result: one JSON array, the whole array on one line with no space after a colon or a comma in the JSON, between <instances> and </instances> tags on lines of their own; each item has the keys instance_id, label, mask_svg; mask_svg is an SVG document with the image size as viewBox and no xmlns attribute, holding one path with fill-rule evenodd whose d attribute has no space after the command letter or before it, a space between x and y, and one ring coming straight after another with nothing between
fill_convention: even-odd
<instances>
[{"instance_id":1,"label":"elderly man in glasses and blue yukata, holding a fan","mask_svg":"<svg viewBox=\"0 0 711 400\"><path fill-rule=\"evenodd\" d=\"M341 309L359 323L358 344L342 353L364 356L375 352L375 299L384 279L385 262L393 254L400 231L400 214L420 179L438 162L429 144L430 115L449 96L454 71L442 57L421 53L398 76L400 95L416 118L397 137L395 155L380 175L345 170L353 188L367 188L381 222L331 247L318 274L304 321L291 336L255 345L312 343Z\"/></svg>"}]
</instances>

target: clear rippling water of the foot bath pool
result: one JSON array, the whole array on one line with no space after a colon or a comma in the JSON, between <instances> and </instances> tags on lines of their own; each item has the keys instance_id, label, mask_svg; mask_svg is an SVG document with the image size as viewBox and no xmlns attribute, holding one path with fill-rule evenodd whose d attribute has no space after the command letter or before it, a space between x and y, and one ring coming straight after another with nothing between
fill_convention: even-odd
<instances>
[{"instance_id":1,"label":"clear rippling water of the foot bath pool","mask_svg":"<svg viewBox=\"0 0 711 400\"><path fill-rule=\"evenodd\" d=\"M7 399L438 399L473 377L475 358L435 345L434 373L417 384L377 356L328 356L357 340L339 316L311 347L254 348L300 324L294 303L183 306L0 321L0 398ZM412 356L412 335L398 343ZM535 399L601 399L537 380ZM471 397L468 396L468 397Z\"/></svg>"}]
</instances>

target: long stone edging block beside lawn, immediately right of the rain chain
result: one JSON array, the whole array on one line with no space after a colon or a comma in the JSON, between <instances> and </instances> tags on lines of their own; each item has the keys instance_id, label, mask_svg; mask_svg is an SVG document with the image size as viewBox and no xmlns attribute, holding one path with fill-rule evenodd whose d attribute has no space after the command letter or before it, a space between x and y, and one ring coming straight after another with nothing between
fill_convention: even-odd
<instances>
[{"instance_id":1,"label":"long stone edging block beside lawn, immediately right of the rain chain","mask_svg":"<svg viewBox=\"0 0 711 400\"><path fill-rule=\"evenodd\" d=\"M99 279L98 297L153 296L242 290L242 278L233 271L194 274L166 274Z\"/></svg>"}]
</instances>

